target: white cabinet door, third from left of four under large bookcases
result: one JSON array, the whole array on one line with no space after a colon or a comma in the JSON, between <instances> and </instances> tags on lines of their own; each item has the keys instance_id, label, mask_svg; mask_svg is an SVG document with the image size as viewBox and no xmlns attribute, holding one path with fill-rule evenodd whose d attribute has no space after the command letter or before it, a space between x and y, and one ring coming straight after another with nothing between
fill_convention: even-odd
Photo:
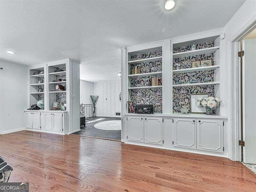
<instances>
[{"instance_id":1,"label":"white cabinet door, third from left of four under large bookcases","mask_svg":"<svg viewBox=\"0 0 256 192\"><path fill-rule=\"evenodd\" d=\"M196 120L174 119L174 146L196 149Z\"/></svg>"}]
</instances>

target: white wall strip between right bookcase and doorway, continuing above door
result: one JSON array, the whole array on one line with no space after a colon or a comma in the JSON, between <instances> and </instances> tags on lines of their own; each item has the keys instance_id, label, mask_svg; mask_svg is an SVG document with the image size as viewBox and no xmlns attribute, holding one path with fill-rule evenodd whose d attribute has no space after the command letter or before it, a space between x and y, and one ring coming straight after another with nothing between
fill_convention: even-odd
<instances>
[{"instance_id":1,"label":"white wall strip between right bookcase and doorway, continuing above door","mask_svg":"<svg viewBox=\"0 0 256 192\"><path fill-rule=\"evenodd\" d=\"M226 103L225 110L228 114L228 157L231 160L240 160L238 153L238 118L236 116L238 108L236 108L236 100L238 93L235 91L236 86L238 86L238 74L236 74L235 58L232 56L232 41L243 33L246 28L256 20L256 1L247 0L241 6L241 8L236 12L236 14L230 19L228 24L224 27L224 33L226 35L224 39L224 66L222 70L226 72L224 76L226 82L225 90L227 91L226 98L224 98L224 103ZM237 51L237 50L236 50Z\"/></svg>"}]
</instances>

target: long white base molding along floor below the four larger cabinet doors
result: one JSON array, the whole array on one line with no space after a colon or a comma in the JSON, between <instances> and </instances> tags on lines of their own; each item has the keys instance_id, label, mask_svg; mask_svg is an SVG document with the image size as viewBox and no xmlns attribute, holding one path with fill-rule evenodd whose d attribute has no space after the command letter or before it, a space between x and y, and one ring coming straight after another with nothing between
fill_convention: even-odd
<instances>
[{"instance_id":1,"label":"long white base molding along floor below the four larger cabinet doors","mask_svg":"<svg viewBox=\"0 0 256 192\"><path fill-rule=\"evenodd\" d=\"M167 147L163 147L163 146L159 146L159 145L152 145L152 144L145 144L145 143L138 143L138 142L130 142L130 141L126 141L126 142L124 142L124 144L228 158L228 156L226 156L224 154L213 153L213 152L211 153L211 152L205 152L205 151L199 151L199 150L184 150L184 149L178 149L178 148L167 148Z\"/></svg>"}]
</instances>

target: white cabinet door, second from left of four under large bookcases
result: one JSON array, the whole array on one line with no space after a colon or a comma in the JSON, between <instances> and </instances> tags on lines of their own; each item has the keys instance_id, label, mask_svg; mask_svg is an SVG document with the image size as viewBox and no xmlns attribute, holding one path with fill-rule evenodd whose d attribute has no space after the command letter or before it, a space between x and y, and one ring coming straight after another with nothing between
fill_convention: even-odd
<instances>
[{"instance_id":1,"label":"white cabinet door, second from left of four under large bookcases","mask_svg":"<svg viewBox=\"0 0 256 192\"><path fill-rule=\"evenodd\" d=\"M144 117L145 143L163 144L163 118Z\"/></svg>"}]
</instances>

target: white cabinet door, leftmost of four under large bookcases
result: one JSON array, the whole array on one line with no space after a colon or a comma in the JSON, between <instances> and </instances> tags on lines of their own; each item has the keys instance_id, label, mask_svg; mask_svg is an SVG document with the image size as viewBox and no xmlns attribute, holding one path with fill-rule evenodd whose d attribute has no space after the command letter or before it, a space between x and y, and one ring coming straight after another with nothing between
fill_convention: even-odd
<instances>
[{"instance_id":1,"label":"white cabinet door, leftmost of four under large bookcases","mask_svg":"<svg viewBox=\"0 0 256 192\"><path fill-rule=\"evenodd\" d=\"M144 118L127 117L128 141L144 142Z\"/></svg>"}]
</instances>

